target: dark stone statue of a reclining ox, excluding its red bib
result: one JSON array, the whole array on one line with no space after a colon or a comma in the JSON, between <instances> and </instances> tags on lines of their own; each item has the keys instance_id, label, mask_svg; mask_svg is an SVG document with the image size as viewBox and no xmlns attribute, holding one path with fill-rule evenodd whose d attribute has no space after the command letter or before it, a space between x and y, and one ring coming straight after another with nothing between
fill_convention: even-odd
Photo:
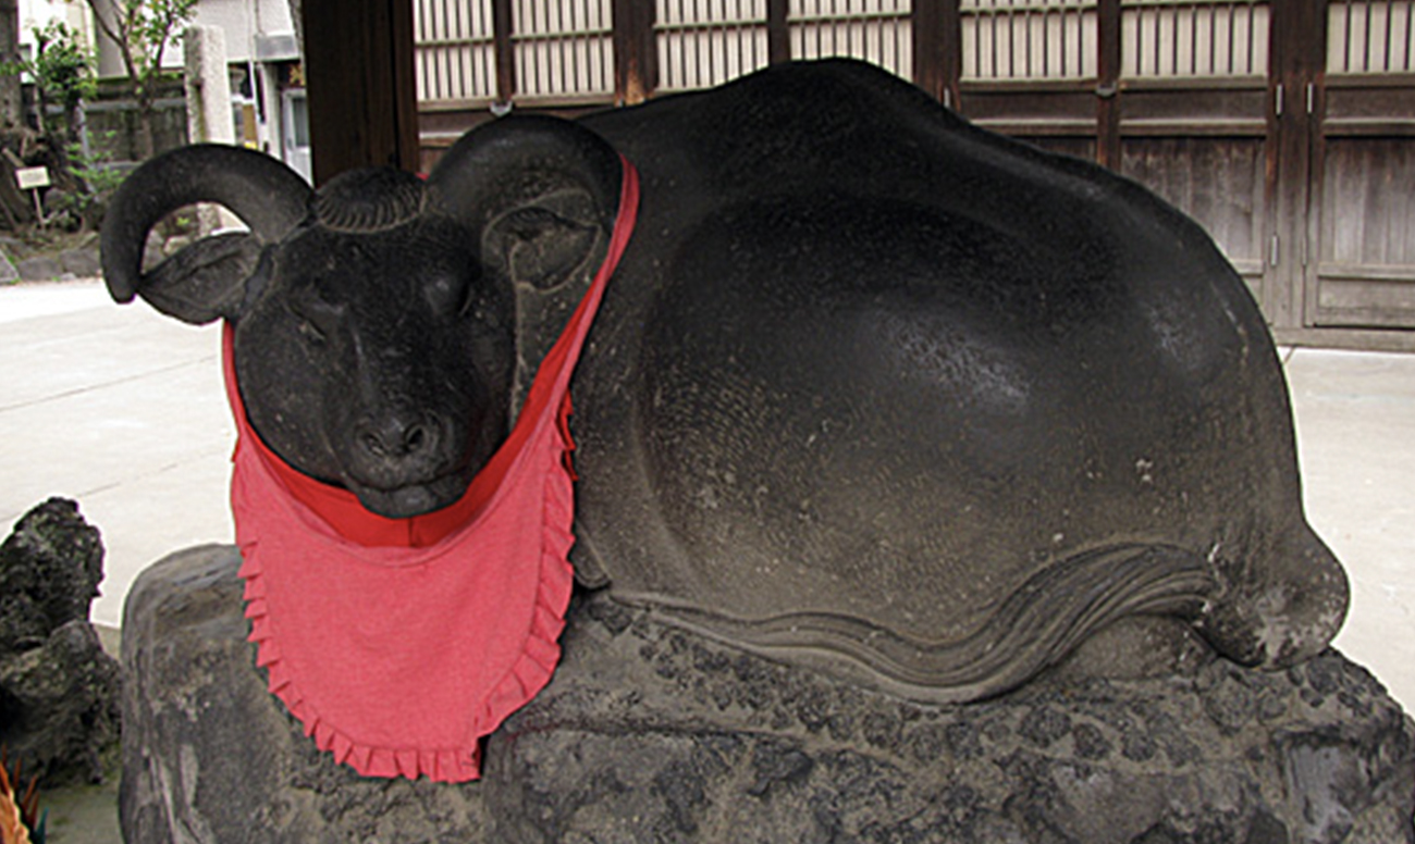
<instances>
[{"instance_id":1,"label":"dark stone statue of a reclining ox, excluding its red bib","mask_svg":"<svg viewBox=\"0 0 1415 844\"><path fill-rule=\"evenodd\" d=\"M1092 164L852 62L579 122L505 117L426 181L192 147L103 232L119 301L233 324L250 424L379 515L443 508L637 228L572 392L582 585L918 701L1102 629L1248 666L1326 647L1341 567L1300 505L1262 315L1204 232ZM143 270L151 226L250 228Z\"/></svg>"}]
</instances>

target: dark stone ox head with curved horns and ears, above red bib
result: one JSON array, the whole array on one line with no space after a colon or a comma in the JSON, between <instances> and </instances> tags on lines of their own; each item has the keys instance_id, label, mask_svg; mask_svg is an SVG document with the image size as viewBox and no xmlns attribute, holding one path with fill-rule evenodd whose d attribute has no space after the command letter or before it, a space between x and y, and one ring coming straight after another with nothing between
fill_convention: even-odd
<instances>
[{"instance_id":1,"label":"dark stone ox head with curved horns and ears, above red bib","mask_svg":"<svg viewBox=\"0 0 1415 844\"><path fill-rule=\"evenodd\" d=\"M470 133L426 182L361 170L318 192L259 153L187 147L115 197L103 276L120 303L233 324L242 402L266 445L375 513L415 516L460 498L504 440L518 291L582 288L618 182L599 136L552 119ZM151 228L192 202L249 230L144 271Z\"/></svg>"}]
</instances>

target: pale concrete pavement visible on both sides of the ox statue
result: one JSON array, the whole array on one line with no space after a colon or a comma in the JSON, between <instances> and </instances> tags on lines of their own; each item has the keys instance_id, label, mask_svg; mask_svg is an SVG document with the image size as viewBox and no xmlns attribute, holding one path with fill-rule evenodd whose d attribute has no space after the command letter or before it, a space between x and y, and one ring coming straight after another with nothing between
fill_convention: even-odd
<instances>
[{"instance_id":1,"label":"pale concrete pavement visible on both sides of the ox statue","mask_svg":"<svg viewBox=\"0 0 1415 844\"><path fill-rule=\"evenodd\" d=\"M1415 710L1415 355L1286 349L1307 517L1351 575L1337 646ZM0 287L0 530L50 495L103 532L95 621L137 573L231 541L219 331L96 281Z\"/></svg>"}]
</instances>

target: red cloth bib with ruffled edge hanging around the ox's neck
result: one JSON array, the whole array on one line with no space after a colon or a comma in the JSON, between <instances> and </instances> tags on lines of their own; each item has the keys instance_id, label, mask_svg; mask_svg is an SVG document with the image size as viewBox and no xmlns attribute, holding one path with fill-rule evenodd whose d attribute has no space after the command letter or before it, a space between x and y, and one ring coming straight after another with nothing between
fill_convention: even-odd
<instances>
[{"instance_id":1,"label":"red cloth bib with ruffled edge hanging around the ox's neck","mask_svg":"<svg viewBox=\"0 0 1415 844\"><path fill-rule=\"evenodd\" d=\"M320 749L365 776L480 776L480 739L550 680L573 571L570 375L628 243L638 177L624 161L604 264L536 372L507 442L441 510L386 519L291 469L236 389L231 508L258 664Z\"/></svg>"}]
</instances>

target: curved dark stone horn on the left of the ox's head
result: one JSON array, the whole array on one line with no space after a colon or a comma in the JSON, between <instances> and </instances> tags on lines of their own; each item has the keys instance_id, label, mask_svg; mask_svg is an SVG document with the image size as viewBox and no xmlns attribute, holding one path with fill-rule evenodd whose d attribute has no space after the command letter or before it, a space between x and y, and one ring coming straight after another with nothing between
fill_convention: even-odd
<instances>
[{"instance_id":1,"label":"curved dark stone horn on the left of the ox's head","mask_svg":"<svg viewBox=\"0 0 1415 844\"><path fill-rule=\"evenodd\" d=\"M273 243L304 219L310 194L293 170L242 147L200 144L164 153L134 170L113 195L100 240L108 291L119 303L133 301L146 279L147 232L184 205L225 205L260 242Z\"/></svg>"}]
</instances>

